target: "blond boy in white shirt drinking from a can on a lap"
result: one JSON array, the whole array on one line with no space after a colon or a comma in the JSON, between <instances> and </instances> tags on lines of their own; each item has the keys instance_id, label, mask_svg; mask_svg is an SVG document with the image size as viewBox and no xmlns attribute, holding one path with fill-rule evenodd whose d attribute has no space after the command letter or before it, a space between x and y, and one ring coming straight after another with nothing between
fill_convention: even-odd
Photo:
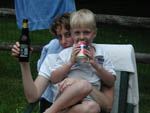
<instances>
[{"instance_id":1,"label":"blond boy in white shirt drinking from a can on a lap","mask_svg":"<svg viewBox=\"0 0 150 113\"><path fill-rule=\"evenodd\" d=\"M81 9L71 14L70 25L74 46L63 50L59 54L55 66L49 67L51 68L50 81L55 84L66 77L75 77L80 80L70 86L66 85L63 89L59 88L59 97L45 113L58 113L74 105L68 111L64 111L69 113L69 111L78 106L78 102L82 104L86 101L94 103L94 113L99 113L99 105L88 96L92 91L92 87L87 85L86 82L90 82L93 86L100 89L100 78L103 76L106 79L107 77L112 77L112 81L114 81L115 77L113 75L116 75L116 73L113 70L109 57L97 44L92 44L97 34L95 15L87 9ZM84 41L88 45L88 49L85 49L85 55L88 57L88 60L82 64L76 63L76 55L80 51L80 46L77 44L79 40ZM106 80L105 84L111 87L113 82ZM87 96L88 98L85 98Z\"/></svg>"}]
</instances>

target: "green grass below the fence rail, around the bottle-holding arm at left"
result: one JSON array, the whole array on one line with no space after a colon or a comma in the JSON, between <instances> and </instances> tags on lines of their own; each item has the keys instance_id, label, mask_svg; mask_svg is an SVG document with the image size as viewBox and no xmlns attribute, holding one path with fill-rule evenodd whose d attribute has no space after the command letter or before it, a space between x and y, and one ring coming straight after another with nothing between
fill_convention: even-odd
<instances>
[{"instance_id":1,"label":"green grass below the fence rail, around the bottle-holding arm at left","mask_svg":"<svg viewBox=\"0 0 150 113\"><path fill-rule=\"evenodd\" d=\"M31 55L33 79L39 54ZM0 113L22 113L27 106L19 63L10 51L0 51Z\"/></svg>"}]
</instances>

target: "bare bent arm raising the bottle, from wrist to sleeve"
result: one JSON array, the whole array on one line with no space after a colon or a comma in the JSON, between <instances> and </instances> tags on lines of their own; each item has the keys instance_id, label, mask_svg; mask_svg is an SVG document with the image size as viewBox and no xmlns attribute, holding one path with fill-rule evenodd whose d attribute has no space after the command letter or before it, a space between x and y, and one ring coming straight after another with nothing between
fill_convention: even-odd
<instances>
[{"instance_id":1,"label":"bare bent arm raising the bottle, from wrist to sleeve","mask_svg":"<svg viewBox=\"0 0 150 113\"><path fill-rule=\"evenodd\" d=\"M38 76L35 82L32 79L29 63L21 62L24 93L29 103L36 102L47 87L48 80Z\"/></svg>"}]
</instances>

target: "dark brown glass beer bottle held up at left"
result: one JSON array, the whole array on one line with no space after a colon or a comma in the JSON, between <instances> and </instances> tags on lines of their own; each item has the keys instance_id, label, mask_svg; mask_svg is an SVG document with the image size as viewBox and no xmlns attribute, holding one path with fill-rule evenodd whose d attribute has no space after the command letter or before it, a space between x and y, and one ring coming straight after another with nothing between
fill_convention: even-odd
<instances>
[{"instance_id":1,"label":"dark brown glass beer bottle held up at left","mask_svg":"<svg viewBox=\"0 0 150 113\"><path fill-rule=\"evenodd\" d=\"M28 29L28 19L23 19L22 23L22 34L20 36L20 62L28 62L29 61L29 53L30 53L30 37L29 37L29 29Z\"/></svg>"}]
</instances>

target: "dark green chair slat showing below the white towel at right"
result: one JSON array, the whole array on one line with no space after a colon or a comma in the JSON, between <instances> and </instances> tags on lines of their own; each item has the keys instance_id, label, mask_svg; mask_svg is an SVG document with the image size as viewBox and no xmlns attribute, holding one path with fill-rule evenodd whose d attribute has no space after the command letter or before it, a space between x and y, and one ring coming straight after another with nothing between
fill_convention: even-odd
<instances>
[{"instance_id":1,"label":"dark green chair slat showing below the white towel at right","mask_svg":"<svg viewBox=\"0 0 150 113\"><path fill-rule=\"evenodd\" d=\"M115 100L111 113L133 113L134 106L127 103L129 72L117 73L115 82ZM102 112L105 113L105 112Z\"/></svg>"}]
</instances>

